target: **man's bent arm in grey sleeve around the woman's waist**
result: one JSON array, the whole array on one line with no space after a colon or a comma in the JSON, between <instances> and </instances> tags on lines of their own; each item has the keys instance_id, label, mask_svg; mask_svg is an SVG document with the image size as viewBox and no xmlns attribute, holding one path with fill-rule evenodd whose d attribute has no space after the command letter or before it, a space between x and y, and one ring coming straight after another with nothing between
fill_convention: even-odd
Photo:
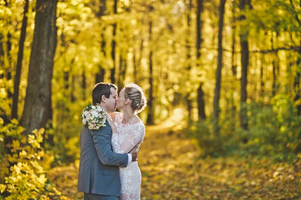
<instances>
[{"instance_id":1,"label":"man's bent arm in grey sleeve around the woman's waist","mask_svg":"<svg viewBox=\"0 0 301 200\"><path fill-rule=\"evenodd\" d=\"M127 166L131 161L128 154L120 154L112 151L111 148L111 127L108 122L100 130L92 130L94 146L99 160L105 165ZM129 157L130 156L130 157Z\"/></svg>"}]
</instances>

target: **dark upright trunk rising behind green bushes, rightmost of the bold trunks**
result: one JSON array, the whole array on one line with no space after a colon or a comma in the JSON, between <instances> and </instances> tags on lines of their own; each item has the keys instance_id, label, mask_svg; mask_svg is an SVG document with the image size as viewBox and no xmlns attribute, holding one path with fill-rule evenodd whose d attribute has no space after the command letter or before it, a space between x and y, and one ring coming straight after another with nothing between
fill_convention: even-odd
<instances>
[{"instance_id":1,"label":"dark upright trunk rising behind green bushes, rightmost of the bold trunks","mask_svg":"<svg viewBox=\"0 0 301 200\"><path fill-rule=\"evenodd\" d=\"M246 6L250 6L250 0L240 0L240 10L244 11ZM241 20L245 20L244 15ZM241 47L241 79L240 79L240 126L243 129L248 128L247 118L247 72L249 63L249 43L248 34L243 35L240 33L240 47Z\"/></svg>"}]
</instances>

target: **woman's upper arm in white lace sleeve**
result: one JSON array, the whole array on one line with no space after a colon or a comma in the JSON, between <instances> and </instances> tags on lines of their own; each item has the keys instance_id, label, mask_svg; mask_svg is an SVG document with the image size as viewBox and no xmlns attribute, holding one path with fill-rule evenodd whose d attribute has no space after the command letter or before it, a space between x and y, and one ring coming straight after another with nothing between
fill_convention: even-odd
<instances>
[{"instance_id":1,"label":"woman's upper arm in white lace sleeve","mask_svg":"<svg viewBox=\"0 0 301 200\"><path fill-rule=\"evenodd\" d=\"M141 144L145 135L145 127L144 125L137 125L134 129L132 129L131 133L129 133L121 144L121 150L124 153L128 153L134 146L137 144Z\"/></svg>"}]
</instances>

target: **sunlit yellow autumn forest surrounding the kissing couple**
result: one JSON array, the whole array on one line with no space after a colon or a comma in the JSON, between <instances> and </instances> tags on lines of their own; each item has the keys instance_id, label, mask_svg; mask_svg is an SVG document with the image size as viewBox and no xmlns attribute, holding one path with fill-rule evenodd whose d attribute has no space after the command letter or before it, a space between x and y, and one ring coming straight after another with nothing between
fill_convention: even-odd
<instances>
[{"instance_id":1,"label":"sunlit yellow autumn forest surrounding the kissing couple","mask_svg":"<svg viewBox=\"0 0 301 200\"><path fill-rule=\"evenodd\" d=\"M83 199L95 83L148 104L141 199L301 198L300 0L0 0L0 199Z\"/></svg>"}]
</instances>

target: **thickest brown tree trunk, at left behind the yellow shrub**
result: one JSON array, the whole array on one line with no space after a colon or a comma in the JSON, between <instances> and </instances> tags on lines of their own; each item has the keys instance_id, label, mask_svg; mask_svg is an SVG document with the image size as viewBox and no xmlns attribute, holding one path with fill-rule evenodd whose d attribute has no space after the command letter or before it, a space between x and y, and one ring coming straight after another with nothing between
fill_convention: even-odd
<instances>
[{"instance_id":1,"label":"thickest brown tree trunk, at left behind the yellow shrub","mask_svg":"<svg viewBox=\"0 0 301 200\"><path fill-rule=\"evenodd\" d=\"M52 57L53 11L56 0L37 0L35 31L30 56L28 84L21 125L25 135L43 127L42 119L49 101L48 76L52 70L49 58Z\"/></svg>"}]
</instances>

